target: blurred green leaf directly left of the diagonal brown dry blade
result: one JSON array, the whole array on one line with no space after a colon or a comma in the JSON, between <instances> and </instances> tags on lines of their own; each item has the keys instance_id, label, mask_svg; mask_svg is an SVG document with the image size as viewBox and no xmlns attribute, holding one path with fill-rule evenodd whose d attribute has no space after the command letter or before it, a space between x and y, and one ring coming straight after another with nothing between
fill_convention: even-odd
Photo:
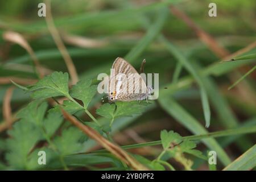
<instances>
[{"instance_id":1,"label":"blurred green leaf directly left of the diagonal brown dry blade","mask_svg":"<svg viewBox=\"0 0 256 182\"><path fill-rule=\"evenodd\" d=\"M79 129L69 127L62 132L61 136L56 137L53 143L55 143L60 155L65 156L81 150L82 145L79 143L81 137L82 133Z\"/></svg>"}]
</instances>

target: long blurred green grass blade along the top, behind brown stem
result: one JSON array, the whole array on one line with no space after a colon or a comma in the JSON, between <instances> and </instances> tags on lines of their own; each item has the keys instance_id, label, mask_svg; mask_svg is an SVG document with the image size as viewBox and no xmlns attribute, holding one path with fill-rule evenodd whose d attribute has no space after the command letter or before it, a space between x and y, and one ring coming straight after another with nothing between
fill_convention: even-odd
<instances>
[{"instance_id":1,"label":"long blurred green grass blade along the top, behind brown stem","mask_svg":"<svg viewBox=\"0 0 256 182\"><path fill-rule=\"evenodd\" d=\"M98 24L104 24L108 23L110 20L113 20L114 18L119 17L126 17L126 16L132 16L134 15L139 16L139 14L147 13L148 11L153 11L160 9L161 7L168 6L170 1L162 1L162 2L155 2L150 3L150 5L146 6L140 6L137 8L128 8L123 10L106 10L101 12L93 12L93 13L82 13L77 15L69 15L66 17L61 18L55 18L54 22L56 27L60 26L75 26L75 25L81 25L83 26L90 26L92 24L98 23ZM2 18L3 19L3 18ZM18 23L18 22L4 22L3 20L0 22L1 26L10 27L12 30L15 31L24 31L24 32L38 32L38 31L46 31L47 26L45 20L41 20L35 23L30 23L30 26L26 26L24 23Z\"/></svg>"}]
</instances>

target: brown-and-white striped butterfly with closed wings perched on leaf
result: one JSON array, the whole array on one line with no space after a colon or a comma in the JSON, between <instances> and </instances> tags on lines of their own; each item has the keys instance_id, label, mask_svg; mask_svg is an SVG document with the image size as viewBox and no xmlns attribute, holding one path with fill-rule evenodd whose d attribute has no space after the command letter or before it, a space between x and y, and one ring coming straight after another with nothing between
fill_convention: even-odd
<instances>
[{"instance_id":1,"label":"brown-and-white striped butterfly with closed wings perched on leaf","mask_svg":"<svg viewBox=\"0 0 256 182\"><path fill-rule=\"evenodd\" d=\"M110 101L148 100L152 93L142 76L121 57L115 59L110 72L108 98Z\"/></svg>"}]
</instances>

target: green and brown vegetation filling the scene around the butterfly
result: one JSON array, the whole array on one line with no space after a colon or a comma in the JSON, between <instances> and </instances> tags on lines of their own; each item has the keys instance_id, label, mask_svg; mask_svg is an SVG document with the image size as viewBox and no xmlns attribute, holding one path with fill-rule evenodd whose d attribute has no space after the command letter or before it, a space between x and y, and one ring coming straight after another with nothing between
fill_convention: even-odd
<instances>
[{"instance_id":1,"label":"green and brown vegetation filling the scene around the butterfly","mask_svg":"<svg viewBox=\"0 0 256 182\"><path fill-rule=\"evenodd\" d=\"M39 3L0 2L1 170L255 169L255 1ZM101 102L117 57L158 100Z\"/></svg>"}]
</instances>

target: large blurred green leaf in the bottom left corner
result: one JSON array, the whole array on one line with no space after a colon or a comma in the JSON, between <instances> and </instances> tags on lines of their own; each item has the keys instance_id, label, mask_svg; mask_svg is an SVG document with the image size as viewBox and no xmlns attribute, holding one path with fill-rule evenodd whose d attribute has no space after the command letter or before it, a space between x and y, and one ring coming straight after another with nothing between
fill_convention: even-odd
<instances>
[{"instance_id":1,"label":"large blurred green leaf in the bottom left corner","mask_svg":"<svg viewBox=\"0 0 256 182\"><path fill-rule=\"evenodd\" d=\"M27 155L42 137L41 132L33 123L24 119L14 124L13 130L9 131L11 139L7 139L9 152L6 159L10 166L17 169L27 168Z\"/></svg>"}]
</instances>

